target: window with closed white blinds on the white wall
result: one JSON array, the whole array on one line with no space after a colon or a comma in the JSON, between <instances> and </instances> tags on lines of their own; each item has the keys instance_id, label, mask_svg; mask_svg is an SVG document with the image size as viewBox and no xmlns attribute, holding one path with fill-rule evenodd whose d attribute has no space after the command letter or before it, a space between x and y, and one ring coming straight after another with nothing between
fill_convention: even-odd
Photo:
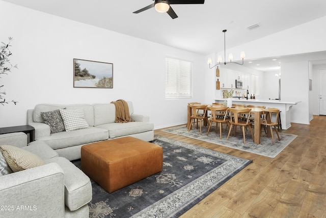
<instances>
[{"instance_id":1,"label":"window with closed white blinds on the white wall","mask_svg":"<svg viewBox=\"0 0 326 218\"><path fill-rule=\"evenodd\" d=\"M173 58L165 59L165 98L192 98L193 64Z\"/></svg>"}]
</instances>

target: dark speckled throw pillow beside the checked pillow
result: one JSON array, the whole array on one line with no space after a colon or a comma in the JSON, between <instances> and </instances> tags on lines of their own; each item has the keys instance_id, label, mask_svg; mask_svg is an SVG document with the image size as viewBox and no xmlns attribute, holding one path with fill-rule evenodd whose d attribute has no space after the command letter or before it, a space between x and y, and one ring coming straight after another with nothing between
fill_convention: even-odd
<instances>
[{"instance_id":1,"label":"dark speckled throw pillow beside the checked pillow","mask_svg":"<svg viewBox=\"0 0 326 218\"><path fill-rule=\"evenodd\" d=\"M59 110L41 112L41 116L44 123L50 126L51 133L65 131L65 125Z\"/></svg>"}]
</instances>

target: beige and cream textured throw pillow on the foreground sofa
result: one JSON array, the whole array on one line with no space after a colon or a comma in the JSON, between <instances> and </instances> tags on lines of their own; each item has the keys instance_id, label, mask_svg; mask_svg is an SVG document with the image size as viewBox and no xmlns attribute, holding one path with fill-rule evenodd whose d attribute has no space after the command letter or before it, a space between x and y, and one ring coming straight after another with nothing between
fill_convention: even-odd
<instances>
[{"instance_id":1,"label":"beige and cream textured throw pillow on the foreground sofa","mask_svg":"<svg viewBox=\"0 0 326 218\"><path fill-rule=\"evenodd\" d=\"M45 164L36 154L15 146L0 146L0 151L13 172L23 171L24 169Z\"/></svg>"}]
</instances>

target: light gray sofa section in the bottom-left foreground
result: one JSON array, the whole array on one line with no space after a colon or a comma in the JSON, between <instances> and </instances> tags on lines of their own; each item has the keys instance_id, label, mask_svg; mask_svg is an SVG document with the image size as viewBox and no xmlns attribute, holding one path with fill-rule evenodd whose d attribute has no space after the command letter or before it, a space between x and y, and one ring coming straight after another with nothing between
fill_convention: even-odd
<instances>
[{"instance_id":1,"label":"light gray sofa section in the bottom-left foreground","mask_svg":"<svg viewBox=\"0 0 326 218\"><path fill-rule=\"evenodd\" d=\"M29 146L26 142L27 136L21 132L0 135L0 146L21 148L44 161L44 165L19 172L0 172L0 217L88 218L90 179L44 141L33 141ZM2 158L0 165L6 168Z\"/></svg>"}]
</instances>

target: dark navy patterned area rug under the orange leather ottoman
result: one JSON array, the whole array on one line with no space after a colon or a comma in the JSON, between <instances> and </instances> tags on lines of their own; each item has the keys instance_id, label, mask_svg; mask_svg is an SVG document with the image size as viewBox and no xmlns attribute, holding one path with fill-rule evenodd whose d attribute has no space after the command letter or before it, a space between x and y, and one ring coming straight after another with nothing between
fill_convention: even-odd
<instances>
[{"instance_id":1,"label":"dark navy patterned area rug under the orange leather ottoman","mask_svg":"<svg viewBox=\"0 0 326 218\"><path fill-rule=\"evenodd\" d=\"M90 218L178 217L251 163L161 136L152 143L163 148L162 172L112 193L91 179Z\"/></svg>"}]
</instances>

